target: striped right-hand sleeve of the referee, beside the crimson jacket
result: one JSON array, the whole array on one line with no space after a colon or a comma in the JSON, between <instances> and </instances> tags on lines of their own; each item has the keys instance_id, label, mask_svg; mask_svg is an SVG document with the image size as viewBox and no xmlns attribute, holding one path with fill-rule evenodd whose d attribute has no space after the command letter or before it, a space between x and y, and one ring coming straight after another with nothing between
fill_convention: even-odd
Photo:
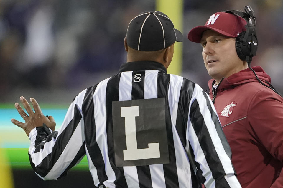
<instances>
[{"instance_id":1,"label":"striped right-hand sleeve of the referee, beside the crimson jacket","mask_svg":"<svg viewBox=\"0 0 283 188\"><path fill-rule=\"evenodd\" d=\"M197 84L189 105L187 139L198 179L205 187L241 187L216 110Z\"/></svg>"}]
</instances>

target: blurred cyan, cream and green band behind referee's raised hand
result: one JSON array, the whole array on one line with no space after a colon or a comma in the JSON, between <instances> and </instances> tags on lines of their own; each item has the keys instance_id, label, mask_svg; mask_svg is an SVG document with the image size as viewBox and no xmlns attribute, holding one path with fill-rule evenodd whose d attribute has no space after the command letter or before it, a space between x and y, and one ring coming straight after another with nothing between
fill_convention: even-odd
<instances>
[{"instance_id":1,"label":"blurred cyan, cream and green band behind referee's raised hand","mask_svg":"<svg viewBox=\"0 0 283 188\"><path fill-rule=\"evenodd\" d=\"M60 128L67 108L68 105L41 105L44 115L52 115L54 117L56 129ZM11 122L11 118L22 121L22 117L14 108L14 104L0 104L0 148L6 153L9 166L12 169L31 169L28 156L29 138L21 128ZM86 156L73 169L87 170L88 161Z\"/></svg>"}]
</instances>

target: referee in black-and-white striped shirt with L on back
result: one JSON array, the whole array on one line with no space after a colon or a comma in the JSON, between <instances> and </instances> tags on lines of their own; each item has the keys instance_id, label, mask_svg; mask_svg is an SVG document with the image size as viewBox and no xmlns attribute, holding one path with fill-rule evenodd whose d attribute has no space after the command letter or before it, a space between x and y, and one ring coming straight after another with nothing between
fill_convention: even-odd
<instances>
[{"instance_id":1,"label":"referee in black-and-white striped shirt with L on back","mask_svg":"<svg viewBox=\"0 0 283 188\"><path fill-rule=\"evenodd\" d=\"M57 179L87 155L94 187L241 187L231 150L208 95L167 74L182 33L160 11L131 20L119 73L75 96L54 131L34 98L15 104L31 144L29 159L44 180Z\"/></svg>"}]
</instances>

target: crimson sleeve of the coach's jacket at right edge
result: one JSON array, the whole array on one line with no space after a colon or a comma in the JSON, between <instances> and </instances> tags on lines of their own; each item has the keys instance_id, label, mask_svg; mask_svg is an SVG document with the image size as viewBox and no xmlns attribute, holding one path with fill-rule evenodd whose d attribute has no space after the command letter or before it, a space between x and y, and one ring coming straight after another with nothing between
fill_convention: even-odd
<instances>
[{"instance_id":1,"label":"crimson sleeve of the coach's jacket at right edge","mask_svg":"<svg viewBox=\"0 0 283 188\"><path fill-rule=\"evenodd\" d=\"M283 98L268 89L256 93L248 108L248 120L255 137L283 163ZM271 188L283 187L283 171Z\"/></svg>"}]
</instances>

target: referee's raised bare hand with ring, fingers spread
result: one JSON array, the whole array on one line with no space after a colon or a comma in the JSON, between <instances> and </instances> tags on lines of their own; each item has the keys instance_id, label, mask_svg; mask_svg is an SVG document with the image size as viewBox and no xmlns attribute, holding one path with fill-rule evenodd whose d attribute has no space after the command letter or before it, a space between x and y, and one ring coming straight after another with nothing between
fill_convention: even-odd
<instances>
[{"instance_id":1,"label":"referee's raised bare hand with ring, fingers spread","mask_svg":"<svg viewBox=\"0 0 283 188\"><path fill-rule=\"evenodd\" d=\"M28 115L24 112L19 103L15 103L15 107L18 110L20 116L24 119L25 123L15 120L14 118L11 119L11 122L18 127L21 127L26 132L27 136L29 136L29 132L33 128L42 127L43 123L45 123L47 127L49 127L52 131L55 130L56 123L54 118L52 116L46 117L45 115L43 115L40 106L34 98L30 98L34 112L24 97L20 97L20 100L23 103L24 108L27 110Z\"/></svg>"}]
</instances>

